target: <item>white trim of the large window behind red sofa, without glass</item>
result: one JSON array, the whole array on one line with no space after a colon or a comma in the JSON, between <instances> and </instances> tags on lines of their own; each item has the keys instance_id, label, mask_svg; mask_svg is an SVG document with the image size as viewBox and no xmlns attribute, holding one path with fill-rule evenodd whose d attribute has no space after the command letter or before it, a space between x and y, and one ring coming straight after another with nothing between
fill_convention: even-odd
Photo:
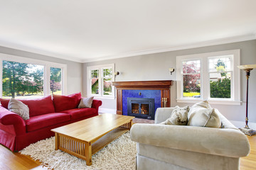
<instances>
[{"instance_id":1,"label":"white trim of the large window behind red sofa, without glass","mask_svg":"<svg viewBox=\"0 0 256 170\"><path fill-rule=\"evenodd\" d=\"M61 72L61 80L62 80L62 94L67 95L67 65L66 64L60 64L56 62L47 62L44 60L36 60L36 59L31 59L31 58L26 58L26 57L19 57L16 55L6 55L0 53L0 97L2 98L3 94L3 83L2 83L2 78L3 78L3 60L5 61L10 61L10 62L21 62L21 63L26 63L26 64L36 64L36 65L41 65L44 67L43 70L43 96L48 96L50 95L50 67L54 68L60 68L62 70Z\"/></svg>"}]
</instances>

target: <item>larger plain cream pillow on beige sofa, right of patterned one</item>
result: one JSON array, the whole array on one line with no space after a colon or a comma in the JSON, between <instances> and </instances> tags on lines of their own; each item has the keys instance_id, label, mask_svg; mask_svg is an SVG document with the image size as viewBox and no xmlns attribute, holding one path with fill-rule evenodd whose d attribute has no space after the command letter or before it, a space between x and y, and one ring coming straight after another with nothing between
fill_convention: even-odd
<instances>
[{"instance_id":1,"label":"larger plain cream pillow on beige sofa, right of patterned one","mask_svg":"<svg viewBox=\"0 0 256 170\"><path fill-rule=\"evenodd\" d=\"M197 108L190 112L188 125L221 128L221 121L214 108Z\"/></svg>"}]
</instances>

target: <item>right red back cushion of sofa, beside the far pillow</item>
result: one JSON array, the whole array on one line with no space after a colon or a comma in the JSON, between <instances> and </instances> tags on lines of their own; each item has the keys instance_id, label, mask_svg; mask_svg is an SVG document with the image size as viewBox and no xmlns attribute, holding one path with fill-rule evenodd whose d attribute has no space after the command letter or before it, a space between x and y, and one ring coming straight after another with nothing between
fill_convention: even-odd
<instances>
[{"instance_id":1,"label":"right red back cushion of sofa, beside the far pillow","mask_svg":"<svg viewBox=\"0 0 256 170\"><path fill-rule=\"evenodd\" d=\"M78 108L80 100L81 100L81 93L70 94L68 96L53 94L53 104L55 107L55 112Z\"/></svg>"}]
</instances>

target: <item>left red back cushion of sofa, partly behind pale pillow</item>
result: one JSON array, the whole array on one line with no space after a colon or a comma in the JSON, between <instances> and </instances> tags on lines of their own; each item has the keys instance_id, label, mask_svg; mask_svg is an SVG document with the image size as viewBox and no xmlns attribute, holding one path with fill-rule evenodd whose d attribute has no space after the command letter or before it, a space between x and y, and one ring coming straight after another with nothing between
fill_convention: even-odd
<instances>
[{"instance_id":1,"label":"left red back cushion of sofa, partly behind pale pillow","mask_svg":"<svg viewBox=\"0 0 256 170\"><path fill-rule=\"evenodd\" d=\"M1 98L0 101L2 106L8 109L8 103L10 99ZM18 101L21 101L22 103L28 106L29 117L55 112L51 96L47 96L44 98L35 98L30 100L18 100Z\"/></svg>"}]
</instances>

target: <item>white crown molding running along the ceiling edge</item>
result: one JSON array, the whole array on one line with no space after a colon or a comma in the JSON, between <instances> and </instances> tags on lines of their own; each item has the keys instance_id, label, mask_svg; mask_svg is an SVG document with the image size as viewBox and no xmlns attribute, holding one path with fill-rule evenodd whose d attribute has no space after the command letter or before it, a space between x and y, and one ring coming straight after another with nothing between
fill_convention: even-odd
<instances>
[{"instance_id":1,"label":"white crown molding running along the ceiling edge","mask_svg":"<svg viewBox=\"0 0 256 170\"><path fill-rule=\"evenodd\" d=\"M119 54L101 55L101 56L87 58L87 59L83 58L85 55L82 55L82 56L72 55L71 56L71 55L57 54L55 52L50 52L46 49L43 50L43 49L39 49L39 48L28 47L28 46L16 44L13 42L0 41L0 46L14 48L16 50L23 50L26 52L33 52L36 54L60 58L63 60L69 60L69 61L73 61L73 62L86 63L86 62L96 62L96 61L102 61L102 60L117 59L117 58L123 58L123 57L132 57L132 56L137 56L137 55L149 55L149 54L155 54L155 53L159 53L159 52L171 52L171 51L175 51L175 50L186 50L186 49L191 49L191 48L196 48L196 47L206 47L206 46L210 46L210 45L220 45L220 44L241 42L241 41L246 41L246 40L255 40L255 39L256 39L256 33L250 33L250 34L234 36L234 37L230 37L230 38L220 38L220 39L216 39L216 40L195 42L195 43L180 45L180 46L159 47L159 48L151 48L151 49L132 51L132 52L122 52Z\"/></svg>"}]
</instances>

